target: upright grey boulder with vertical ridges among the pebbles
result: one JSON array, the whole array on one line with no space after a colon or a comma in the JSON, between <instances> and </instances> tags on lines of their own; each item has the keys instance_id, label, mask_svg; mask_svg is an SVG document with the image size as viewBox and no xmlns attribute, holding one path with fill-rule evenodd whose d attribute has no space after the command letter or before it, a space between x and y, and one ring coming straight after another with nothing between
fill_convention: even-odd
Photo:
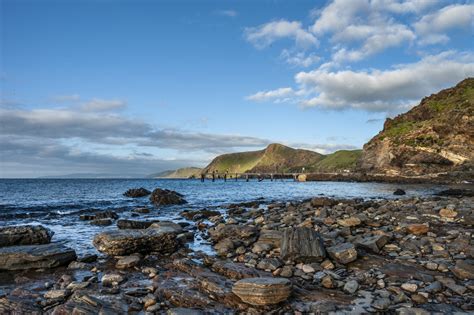
<instances>
[{"instance_id":1,"label":"upright grey boulder with vertical ridges among the pebbles","mask_svg":"<svg viewBox=\"0 0 474 315\"><path fill-rule=\"evenodd\" d=\"M311 228L285 229L281 240L281 258L284 261L319 262L326 257L319 233Z\"/></svg>"}]
</instances>

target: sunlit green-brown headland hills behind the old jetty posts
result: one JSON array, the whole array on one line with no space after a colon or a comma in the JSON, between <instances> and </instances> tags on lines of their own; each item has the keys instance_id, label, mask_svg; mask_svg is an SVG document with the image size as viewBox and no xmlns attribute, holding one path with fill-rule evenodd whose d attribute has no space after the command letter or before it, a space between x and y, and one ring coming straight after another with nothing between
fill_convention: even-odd
<instances>
[{"instance_id":1,"label":"sunlit green-brown headland hills behind the old jetty posts","mask_svg":"<svg viewBox=\"0 0 474 315\"><path fill-rule=\"evenodd\" d=\"M204 172L224 173L272 173L305 171L336 171L352 169L357 164L361 151L337 151L323 155L314 151L293 149L273 143L259 151L223 154L216 157ZM327 159L327 160L326 160ZM326 162L324 162L326 161Z\"/></svg>"}]
</instances>

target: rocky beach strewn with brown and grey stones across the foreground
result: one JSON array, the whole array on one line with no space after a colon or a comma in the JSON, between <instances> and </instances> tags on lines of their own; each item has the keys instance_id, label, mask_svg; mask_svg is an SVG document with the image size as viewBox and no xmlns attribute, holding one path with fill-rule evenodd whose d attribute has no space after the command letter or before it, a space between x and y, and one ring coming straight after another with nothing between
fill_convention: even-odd
<instances>
[{"instance_id":1,"label":"rocky beach strewn with brown and grey stones across the foreground","mask_svg":"<svg viewBox=\"0 0 474 315\"><path fill-rule=\"evenodd\" d=\"M165 189L128 194L157 207L186 202ZM473 199L451 190L256 200L184 210L175 222L98 212L84 219L116 225L94 237L98 255L77 253L41 226L7 226L0 313L470 313ZM194 238L214 252L193 251Z\"/></svg>"}]
</instances>

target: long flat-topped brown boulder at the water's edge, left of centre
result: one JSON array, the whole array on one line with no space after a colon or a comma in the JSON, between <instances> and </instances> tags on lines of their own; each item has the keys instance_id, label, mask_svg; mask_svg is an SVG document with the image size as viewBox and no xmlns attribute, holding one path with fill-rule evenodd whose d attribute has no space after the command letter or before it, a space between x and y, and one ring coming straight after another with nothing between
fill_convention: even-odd
<instances>
[{"instance_id":1,"label":"long flat-topped brown boulder at the water's edge, left of centre","mask_svg":"<svg viewBox=\"0 0 474 315\"><path fill-rule=\"evenodd\" d=\"M93 244L100 252L123 256L133 253L172 253L181 242L172 227L148 228L145 230L106 231L94 237Z\"/></svg>"}]
</instances>

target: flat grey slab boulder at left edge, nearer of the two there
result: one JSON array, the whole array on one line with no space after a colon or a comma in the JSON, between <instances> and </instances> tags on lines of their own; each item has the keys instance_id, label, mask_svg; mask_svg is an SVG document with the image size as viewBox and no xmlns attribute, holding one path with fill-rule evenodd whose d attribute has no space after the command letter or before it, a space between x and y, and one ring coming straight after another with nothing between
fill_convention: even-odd
<instances>
[{"instance_id":1,"label":"flat grey slab boulder at left edge, nearer of the two there","mask_svg":"<svg viewBox=\"0 0 474 315\"><path fill-rule=\"evenodd\" d=\"M76 259L76 252L59 243L0 248L0 269L25 270L54 268Z\"/></svg>"}]
</instances>

